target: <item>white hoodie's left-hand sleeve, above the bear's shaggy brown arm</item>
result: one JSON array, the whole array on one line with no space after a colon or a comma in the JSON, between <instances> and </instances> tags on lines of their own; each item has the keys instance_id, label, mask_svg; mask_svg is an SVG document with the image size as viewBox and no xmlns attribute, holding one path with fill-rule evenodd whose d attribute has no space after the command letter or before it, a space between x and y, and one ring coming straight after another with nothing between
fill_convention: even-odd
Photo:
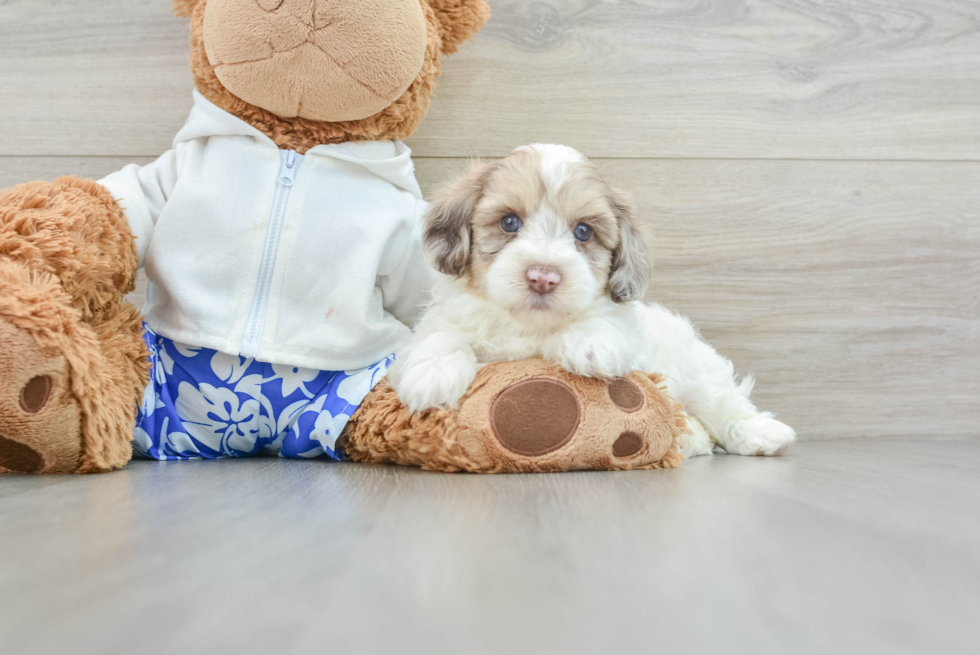
<instances>
[{"instance_id":1,"label":"white hoodie's left-hand sleeve, above the bear's shaggy brown arm","mask_svg":"<svg viewBox=\"0 0 980 655\"><path fill-rule=\"evenodd\" d=\"M140 268L153 238L153 228L177 184L177 153L170 150L146 166L130 164L99 180L120 204L136 237Z\"/></svg>"}]
</instances>

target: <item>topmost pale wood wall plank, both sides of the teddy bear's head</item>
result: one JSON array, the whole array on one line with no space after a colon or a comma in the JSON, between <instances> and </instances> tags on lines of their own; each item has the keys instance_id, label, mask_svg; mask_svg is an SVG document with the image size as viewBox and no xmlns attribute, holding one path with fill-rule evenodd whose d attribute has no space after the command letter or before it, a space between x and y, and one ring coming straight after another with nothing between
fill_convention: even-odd
<instances>
[{"instance_id":1,"label":"topmost pale wood wall plank, both sides of the teddy bear's head","mask_svg":"<svg viewBox=\"0 0 980 655\"><path fill-rule=\"evenodd\" d=\"M186 117L166 0L0 3L0 155L156 155ZM419 156L980 159L973 0L494 0Z\"/></svg>"}]
</instances>

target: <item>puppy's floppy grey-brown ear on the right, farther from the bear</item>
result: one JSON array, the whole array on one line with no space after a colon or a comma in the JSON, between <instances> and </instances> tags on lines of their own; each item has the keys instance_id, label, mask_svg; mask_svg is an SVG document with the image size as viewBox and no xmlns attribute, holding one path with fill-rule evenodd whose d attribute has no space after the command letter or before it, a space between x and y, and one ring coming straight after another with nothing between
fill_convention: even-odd
<instances>
[{"instance_id":1,"label":"puppy's floppy grey-brown ear on the right, farther from the bear","mask_svg":"<svg viewBox=\"0 0 980 655\"><path fill-rule=\"evenodd\" d=\"M619 245L613 251L609 293L615 302L642 300L653 275L649 231L641 223L629 196L610 189L609 202L619 223Z\"/></svg>"}]
</instances>

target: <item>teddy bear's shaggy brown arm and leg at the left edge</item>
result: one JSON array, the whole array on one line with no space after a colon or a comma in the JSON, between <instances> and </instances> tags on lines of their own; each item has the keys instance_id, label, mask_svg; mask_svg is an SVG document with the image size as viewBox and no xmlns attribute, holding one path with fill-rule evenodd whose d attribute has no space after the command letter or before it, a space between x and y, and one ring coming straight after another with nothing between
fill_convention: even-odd
<instances>
[{"instance_id":1,"label":"teddy bear's shaggy brown arm and leg at the left edge","mask_svg":"<svg viewBox=\"0 0 980 655\"><path fill-rule=\"evenodd\" d=\"M67 177L0 194L0 436L34 450L36 472L129 461L149 376L139 314L123 299L135 274L122 209L95 182ZM23 390L38 377L48 379L47 402L25 411Z\"/></svg>"}]
</instances>

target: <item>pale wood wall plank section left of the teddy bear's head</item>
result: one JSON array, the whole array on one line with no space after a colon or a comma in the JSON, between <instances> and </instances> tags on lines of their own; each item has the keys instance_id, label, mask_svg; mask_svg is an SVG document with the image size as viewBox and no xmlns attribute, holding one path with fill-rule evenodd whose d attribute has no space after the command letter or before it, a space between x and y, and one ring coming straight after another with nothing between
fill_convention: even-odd
<instances>
[{"instance_id":1,"label":"pale wood wall plank section left of the teddy bear's head","mask_svg":"<svg viewBox=\"0 0 980 655\"><path fill-rule=\"evenodd\" d=\"M0 154L161 154L192 104L187 40L167 0L0 3Z\"/></svg>"}]
</instances>

